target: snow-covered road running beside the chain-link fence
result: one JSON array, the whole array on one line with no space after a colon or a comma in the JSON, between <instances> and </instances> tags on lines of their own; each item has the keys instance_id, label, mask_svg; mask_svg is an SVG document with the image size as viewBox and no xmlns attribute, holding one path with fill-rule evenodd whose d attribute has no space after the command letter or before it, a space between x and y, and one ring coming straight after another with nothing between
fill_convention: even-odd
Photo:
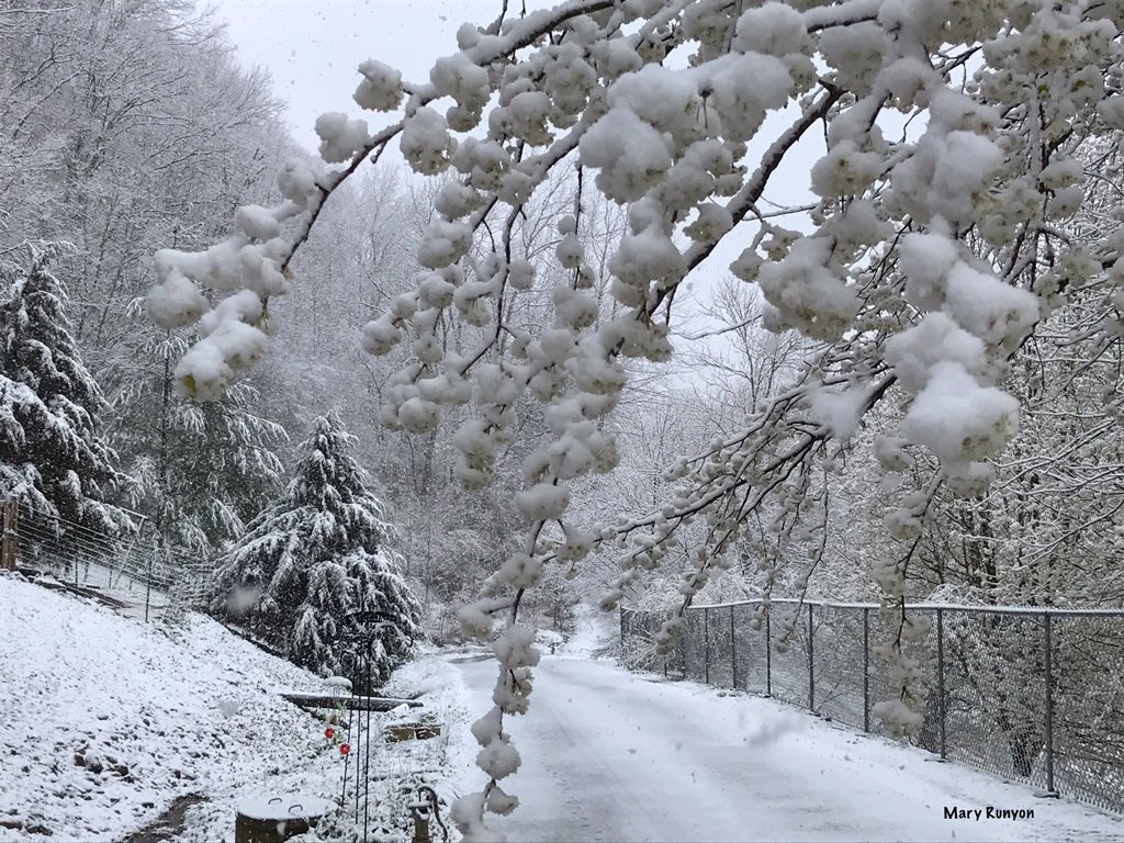
<instances>
[{"instance_id":1,"label":"snow-covered road running beside the chain-link fence","mask_svg":"<svg viewBox=\"0 0 1124 843\"><path fill-rule=\"evenodd\" d=\"M483 713L495 663L457 667ZM653 679L544 658L531 715L508 719L524 765L504 785L523 806L497 827L527 843L1124 839L1122 817L771 700ZM944 818L945 807L988 806L1034 817Z\"/></svg>"}]
</instances>

